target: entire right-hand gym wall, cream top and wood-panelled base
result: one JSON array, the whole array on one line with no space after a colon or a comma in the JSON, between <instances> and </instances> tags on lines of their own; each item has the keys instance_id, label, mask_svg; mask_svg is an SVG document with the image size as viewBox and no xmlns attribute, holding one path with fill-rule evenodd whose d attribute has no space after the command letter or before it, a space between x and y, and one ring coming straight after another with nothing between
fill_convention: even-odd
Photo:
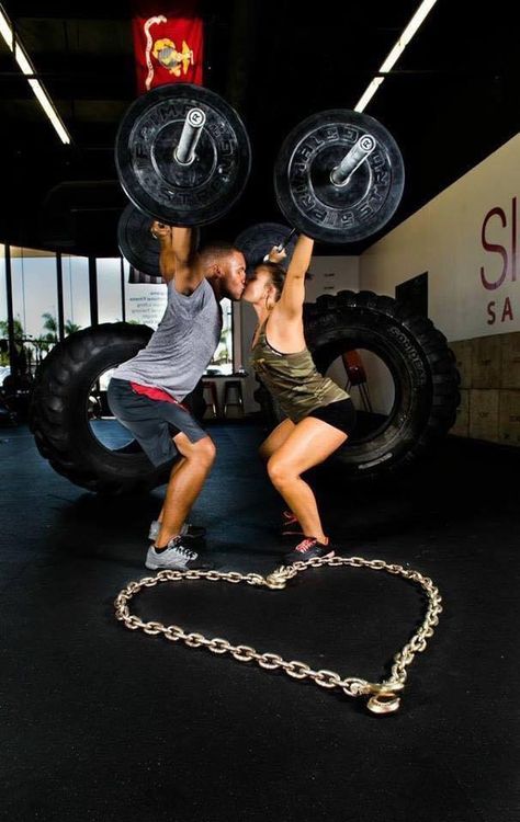
<instances>
[{"instance_id":1,"label":"entire right-hand gym wall, cream top and wood-panelled base","mask_svg":"<svg viewBox=\"0 0 520 822\"><path fill-rule=\"evenodd\" d=\"M520 446L520 136L360 258L360 288L428 272L428 315L461 372L452 433Z\"/></svg>"}]
</instances>

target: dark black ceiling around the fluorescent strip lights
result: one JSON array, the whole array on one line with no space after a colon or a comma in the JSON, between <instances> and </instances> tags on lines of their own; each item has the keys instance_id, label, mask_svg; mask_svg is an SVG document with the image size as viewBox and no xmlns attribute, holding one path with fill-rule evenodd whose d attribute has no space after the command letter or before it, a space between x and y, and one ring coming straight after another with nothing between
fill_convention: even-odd
<instances>
[{"instance_id":1,"label":"dark black ceiling around the fluorescent strip lights","mask_svg":"<svg viewBox=\"0 0 520 822\"><path fill-rule=\"evenodd\" d=\"M205 229L206 239L233 239L253 222L283 221L271 179L284 136L309 114L352 109L418 4L202 3L205 85L239 111L253 150L242 198ZM136 96L131 3L3 5L74 142L60 144L2 41L0 240L116 254L126 199L113 146L118 121ZM157 13L162 7L157 3ZM513 9L506 2L439 0L369 104L366 113L394 135L406 168L402 204L384 232L519 130ZM380 236L323 251L359 253Z\"/></svg>"}]
</instances>

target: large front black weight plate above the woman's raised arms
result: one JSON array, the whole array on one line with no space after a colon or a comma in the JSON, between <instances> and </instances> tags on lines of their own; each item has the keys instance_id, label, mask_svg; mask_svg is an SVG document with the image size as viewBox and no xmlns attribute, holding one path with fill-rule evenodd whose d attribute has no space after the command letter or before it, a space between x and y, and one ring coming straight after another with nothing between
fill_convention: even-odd
<instances>
[{"instance_id":1,"label":"large front black weight plate above the woman's raised arms","mask_svg":"<svg viewBox=\"0 0 520 822\"><path fill-rule=\"evenodd\" d=\"M337 186L331 171L363 137L376 147ZM391 219L405 185L399 148L374 117L335 109L308 117L285 139L274 168L279 206L289 222L315 240L347 243L364 240Z\"/></svg>"}]
</instances>

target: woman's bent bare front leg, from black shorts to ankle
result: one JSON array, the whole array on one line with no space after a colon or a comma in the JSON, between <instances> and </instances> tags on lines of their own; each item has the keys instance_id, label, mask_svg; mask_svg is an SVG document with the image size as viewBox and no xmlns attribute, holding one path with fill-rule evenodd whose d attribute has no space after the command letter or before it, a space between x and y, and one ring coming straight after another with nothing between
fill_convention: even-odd
<instances>
[{"instance_id":1,"label":"woman's bent bare front leg, from black shorts to ankle","mask_svg":"<svg viewBox=\"0 0 520 822\"><path fill-rule=\"evenodd\" d=\"M274 433L274 432L273 432ZM316 498L301 475L323 463L347 439L347 434L321 420L307 416L271 455L271 482L297 517L303 533L327 544Z\"/></svg>"}]
</instances>

